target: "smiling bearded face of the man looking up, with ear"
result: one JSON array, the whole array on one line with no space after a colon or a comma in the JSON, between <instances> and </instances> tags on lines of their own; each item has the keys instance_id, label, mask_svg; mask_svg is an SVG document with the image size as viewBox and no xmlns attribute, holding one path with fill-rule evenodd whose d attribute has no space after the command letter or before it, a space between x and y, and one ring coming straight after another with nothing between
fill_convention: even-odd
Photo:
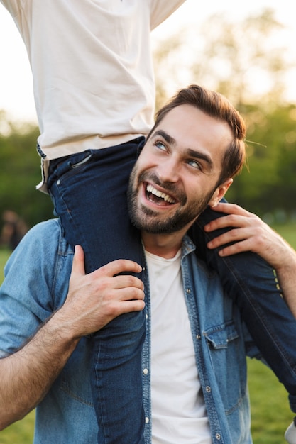
<instances>
[{"instance_id":1,"label":"smiling bearded face of the man looking up, with ear","mask_svg":"<svg viewBox=\"0 0 296 444\"><path fill-rule=\"evenodd\" d=\"M191 105L172 109L150 134L131 174L139 188L128 194L134 225L149 233L185 233L229 188L232 179L220 184L220 178L232 139L225 121Z\"/></svg>"}]
</instances>

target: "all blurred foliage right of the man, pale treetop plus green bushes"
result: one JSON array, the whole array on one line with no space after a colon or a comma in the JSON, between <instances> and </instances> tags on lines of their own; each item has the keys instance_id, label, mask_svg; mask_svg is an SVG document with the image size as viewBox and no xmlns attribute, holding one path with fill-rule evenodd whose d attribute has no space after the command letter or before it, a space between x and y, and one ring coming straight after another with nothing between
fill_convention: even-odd
<instances>
[{"instance_id":1,"label":"all blurred foliage right of the man, pale treetop plus green bushes","mask_svg":"<svg viewBox=\"0 0 296 444\"><path fill-rule=\"evenodd\" d=\"M214 14L155 45L156 108L187 84L224 94L247 123L247 165L226 198L268 223L296 220L296 106L287 95L295 53L273 9L240 21ZM293 59L294 57L294 59Z\"/></svg>"}]
</instances>

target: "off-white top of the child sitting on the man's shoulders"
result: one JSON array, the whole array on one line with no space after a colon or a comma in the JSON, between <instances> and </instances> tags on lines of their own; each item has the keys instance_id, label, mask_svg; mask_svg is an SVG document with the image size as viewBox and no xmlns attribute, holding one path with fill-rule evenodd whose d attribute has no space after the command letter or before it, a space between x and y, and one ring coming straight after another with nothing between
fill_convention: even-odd
<instances>
[{"instance_id":1,"label":"off-white top of the child sitting on the man's shoulders","mask_svg":"<svg viewBox=\"0 0 296 444\"><path fill-rule=\"evenodd\" d=\"M148 133L150 30L185 0L0 1L27 48L47 160Z\"/></svg>"}]
</instances>

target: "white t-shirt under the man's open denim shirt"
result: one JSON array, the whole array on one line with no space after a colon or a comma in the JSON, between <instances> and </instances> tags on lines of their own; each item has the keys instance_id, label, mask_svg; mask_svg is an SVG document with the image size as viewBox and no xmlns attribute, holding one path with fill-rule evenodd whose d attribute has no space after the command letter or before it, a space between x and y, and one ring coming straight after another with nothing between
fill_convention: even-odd
<instances>
[{"instance_id":1,"label":"white t-shirt under the man's open denim shirt","mask_svg":"<svg viewBox=\"0 0 296 444\"><path fill-rule=\"evenodd\" d=\"M151 298L153 444L211 444L178 252L146 252Z\"/></svg>"}]
</instances>

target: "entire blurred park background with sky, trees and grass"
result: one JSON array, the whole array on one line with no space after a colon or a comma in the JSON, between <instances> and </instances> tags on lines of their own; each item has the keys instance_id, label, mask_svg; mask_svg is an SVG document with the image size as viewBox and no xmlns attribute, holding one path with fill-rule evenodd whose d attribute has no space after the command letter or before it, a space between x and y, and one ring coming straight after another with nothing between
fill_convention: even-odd
<instances>
[{"instance_id":1,"label":"entire blurred park background with sky, trees and grass","mask_svg":"<svg viewBox=\"0 0 296 444\"><path fill-rule=\"evenodd\" d=\"M227 199L258 213L296 248L296 26L290 4L251 0L238 11L231 0L223 2L224 9L214 0L197 3L188 0L180 16L177 11L153 31L156 109L191 83L229 97L247 122L248 162ZM53 207L48 196L35 191L40 159L31 72L2 6L0 42L0 215L11 210L30 228L53 217ZM0 250L0 271L10 254L7 247L3 243ZM292 421L285 389L259 362L249 362L249 382L254 444L284 444ZM0 444L31 443L33 421L32 413L0 432Z\"/></svg>"}]
</instances>

